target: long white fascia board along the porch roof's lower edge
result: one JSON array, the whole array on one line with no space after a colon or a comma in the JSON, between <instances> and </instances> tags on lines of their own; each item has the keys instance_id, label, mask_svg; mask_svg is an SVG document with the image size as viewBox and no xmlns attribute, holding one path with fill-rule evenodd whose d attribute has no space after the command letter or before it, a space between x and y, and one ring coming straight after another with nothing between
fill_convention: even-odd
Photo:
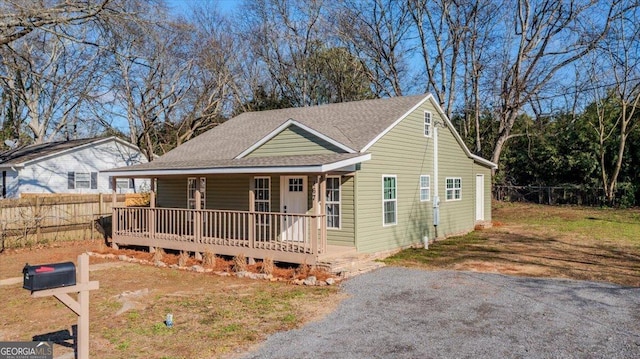
<instances>
[{"instance_id":1,"label":"long white fascia board along the porch roof's lower edge","mask_svg":"<svg viewBox=\"0 0 640 359\"><path fill-rule=\"evenodd\" d=\"M194 169L160 169L142 171L100 171L112 177L154 177L172 175L206 175L206 174L234 174L234 173L324 173L355 165L371 159L371 154L349 158L346 160L312 166L277 166L277 167L221 167L221 168L194 168Z\"/></svg>"}]
</instances>

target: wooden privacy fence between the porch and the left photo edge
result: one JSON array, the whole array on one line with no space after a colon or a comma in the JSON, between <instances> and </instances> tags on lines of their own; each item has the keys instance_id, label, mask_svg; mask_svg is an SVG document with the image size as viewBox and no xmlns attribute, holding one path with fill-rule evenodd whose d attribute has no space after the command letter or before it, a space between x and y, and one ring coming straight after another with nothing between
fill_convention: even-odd
<instances>
[{"instance_id":1,"label":"wooden privacy fence between the porch and the left photo edge","mask_svg":"<svg viewBox=\"0 0 640 359\"><path fill-rule=\"evenodd\" d=\"M33 194L0 200L0 249L79 235L86 238L87 231L92 238L96 230L106 235L103 228L110 228L111 196ZM116 205L124 205L126 196L116 195Z\"/></svg>"}]
</instances>

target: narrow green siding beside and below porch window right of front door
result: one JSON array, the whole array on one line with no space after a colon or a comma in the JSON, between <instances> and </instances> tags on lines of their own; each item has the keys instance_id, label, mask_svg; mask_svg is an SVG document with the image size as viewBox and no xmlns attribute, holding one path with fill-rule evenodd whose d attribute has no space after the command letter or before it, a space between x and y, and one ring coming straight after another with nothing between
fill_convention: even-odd
<instances>
[{"instance_id":1,"label":"narrow green siding beside and below porch window right of front door","mask_svg":"<svg viewBox=\"0 0 640 359\"><path fill-rule=\"evenodd\" d=\"M352 176L340 179L340 229L327 228L327 244L337 246L355 245L354 185Z\"/></svg>"}]
</instances>

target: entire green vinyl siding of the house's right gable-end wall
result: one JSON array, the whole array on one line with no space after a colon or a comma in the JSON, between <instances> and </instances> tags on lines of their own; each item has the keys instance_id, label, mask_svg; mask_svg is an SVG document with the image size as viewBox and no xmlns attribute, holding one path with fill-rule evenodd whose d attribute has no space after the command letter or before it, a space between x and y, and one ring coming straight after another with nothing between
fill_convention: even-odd
<instances>
[{"instance_id":1,"label":"entire green vinyl siding of the house's right gable-end wall","mask_svg":"<svg viewBox=\"0 0 640 359\"><path fill-rule=\"evenodd\" d=\"M437 131L438 177L433 155L436 136L424 136L424 111ZM475 177L485 174L485 219L491 218L491 170L474 163L446 127L430 101L425 102L367 150L372 154L356 173L356 247L374 253L421 244L429 239L472 231L475 226ZM397 223L383 225L382 179L397 177ZM420 176L430 176L430 201L420 202ZM446 200L446 179L461 179L461 199ZM440 222L433 225L433 199L440 199Z\"/></svg>"}]
</instances>

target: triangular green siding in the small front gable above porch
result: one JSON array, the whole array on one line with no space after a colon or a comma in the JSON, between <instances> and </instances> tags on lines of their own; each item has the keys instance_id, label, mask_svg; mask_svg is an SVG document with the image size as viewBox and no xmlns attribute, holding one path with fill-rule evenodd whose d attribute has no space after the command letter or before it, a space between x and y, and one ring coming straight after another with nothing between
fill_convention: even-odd
<instances>
[{"instance_id":1,"label":"triangular green siding in the small front gable above porch","mask_svg":"<svg viewBox=\"0 0 640 359\"><path fill-rule=\"evenodd\" d=\"M247 157L316 155L344 153L345 151L298 126L289 126L269 141L256 148Z\"/></svg>"}]
</instances>

